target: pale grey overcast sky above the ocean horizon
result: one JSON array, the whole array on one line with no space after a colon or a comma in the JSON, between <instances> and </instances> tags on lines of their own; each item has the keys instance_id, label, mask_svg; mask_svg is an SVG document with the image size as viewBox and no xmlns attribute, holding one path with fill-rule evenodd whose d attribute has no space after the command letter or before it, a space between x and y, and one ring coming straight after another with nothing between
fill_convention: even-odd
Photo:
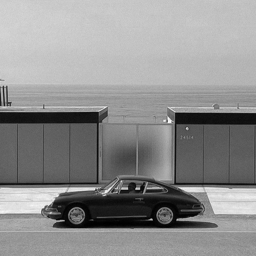
<instances>
[{"instance_id":1,"label":"pale grey overcast sky above the ocean horizon","mask_svg":"<svg viewBox=\"0 0 256 256\"><path fill-rule=\"evenodd\" d=\"M256 83L255 0L1 0L6 84Z\"/></svg>"}]
</instances>

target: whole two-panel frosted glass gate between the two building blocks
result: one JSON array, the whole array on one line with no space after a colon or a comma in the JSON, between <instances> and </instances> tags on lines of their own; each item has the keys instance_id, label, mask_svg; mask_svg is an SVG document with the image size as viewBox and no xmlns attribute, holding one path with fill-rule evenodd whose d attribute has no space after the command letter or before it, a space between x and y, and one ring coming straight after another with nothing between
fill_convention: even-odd
<instances>
[{"instance_id":1,"label":"whole two-panel frosted glass gate between the two building blocks","mask_svg":"<svg viewBox=\"0 0 256 256\"><path fill-rule=\"evenodd\" d=\"M101 123L99 136L100 183L120 174L174 183L173 124Z\"/></svg>"}]
</instances>

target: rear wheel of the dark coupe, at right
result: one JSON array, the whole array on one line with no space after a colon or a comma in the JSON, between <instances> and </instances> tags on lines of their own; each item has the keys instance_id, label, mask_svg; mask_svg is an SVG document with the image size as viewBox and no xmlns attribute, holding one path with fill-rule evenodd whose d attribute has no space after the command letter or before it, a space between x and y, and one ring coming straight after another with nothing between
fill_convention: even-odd
<instances>
[{"instance_id":1,"label":"rear wheel of the dark coupe, at right","mask_svg":"<svg viewBox=\"0 0 256 256\"><path fill-rule=\"evenodd\" d=\"M176 222L176 210L172 206L158 206L153 212L154 224L158 227L168 227Z\"/></svg>"}]
</instances>

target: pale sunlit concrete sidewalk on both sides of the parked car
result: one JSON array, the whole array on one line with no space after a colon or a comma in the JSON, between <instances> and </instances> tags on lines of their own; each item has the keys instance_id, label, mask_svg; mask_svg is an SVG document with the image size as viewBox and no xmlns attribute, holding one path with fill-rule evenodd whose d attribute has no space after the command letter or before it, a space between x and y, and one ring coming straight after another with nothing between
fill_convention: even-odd
<instances>
[{"instance_id":1,"label":"pale sunlit concrete sidewalk on both sides of the parked car","mask_svg":"<svg viewBox=\"0 0 256 256\"><path fill-rule=\"evenodd\" d=\"M256 214L256 186L179 185L179 187L195 196L198 193L205 194L204 198L209 202L209 208L212 207L214 214ZM59 193L95 188L95 184L2 185L0 186L0 214L40 214L41 208L50 204Z\"/></svg>"}]
</instances>

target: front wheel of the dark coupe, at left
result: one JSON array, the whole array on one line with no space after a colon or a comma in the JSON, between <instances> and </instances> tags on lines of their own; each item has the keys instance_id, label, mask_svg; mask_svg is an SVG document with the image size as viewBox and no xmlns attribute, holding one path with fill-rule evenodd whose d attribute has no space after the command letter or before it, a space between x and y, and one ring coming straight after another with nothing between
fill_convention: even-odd
<instances>
[{"instance_id":1,"label":"front wheel of the dark coupe, at left","mask_svg":"<svg viewBox=\"0 0 256 256\"><path fill-rule=\"evenodd\" d=\"M70 206L65 211L65 222L71 227L82 227L88 222L88 213L83 206Z\"/></svg>"}]
</instances>

